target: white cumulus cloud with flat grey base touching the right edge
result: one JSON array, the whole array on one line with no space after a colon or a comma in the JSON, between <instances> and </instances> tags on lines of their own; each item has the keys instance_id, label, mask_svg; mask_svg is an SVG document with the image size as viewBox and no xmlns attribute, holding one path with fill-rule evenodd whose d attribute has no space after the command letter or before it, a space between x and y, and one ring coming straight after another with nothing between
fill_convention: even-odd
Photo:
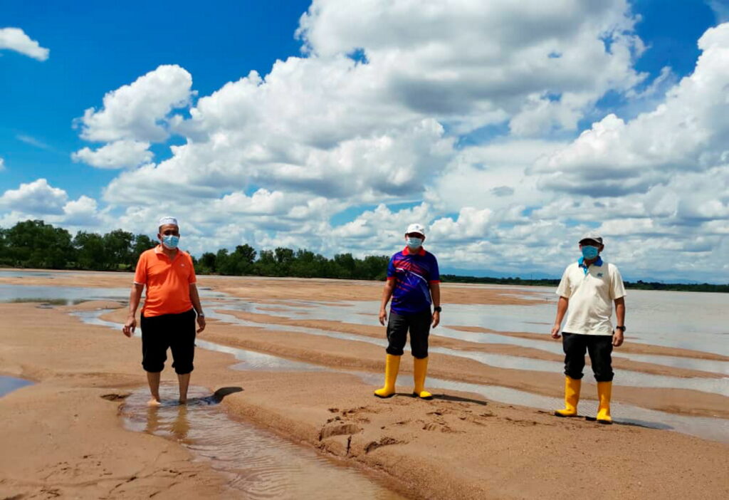
<instances>
[{"instance_id":1,"label":"white cumulus cloud with flat grey base touching the right edge","mask_svg":"<svg viewBox=\"0 0 729 500\"><path fill-rule=\"evenodd\" d=\"M609 114L537 164L543 187L586 195L647 192L683 171L729 163L729 23L710 28L688 77L651 112L625 122Z\"/></svg>"}]
</instances>

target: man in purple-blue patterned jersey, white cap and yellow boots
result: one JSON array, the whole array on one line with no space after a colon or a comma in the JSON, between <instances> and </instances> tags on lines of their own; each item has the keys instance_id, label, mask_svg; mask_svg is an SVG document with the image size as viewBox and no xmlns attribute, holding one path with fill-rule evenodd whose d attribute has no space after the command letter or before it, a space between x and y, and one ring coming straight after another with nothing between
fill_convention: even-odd
<instances>
[{"instance_id":1,"label":"man in purple-blue patterned jersey, white cap and yellow boots","mask_svg":"<svg viewBox=\"0 0 729 500\"><path fill-rule=\"evenodd\" d=\"M395 380L400 367L405 342L410 331L410 351L413 353L413 396L433 399L425 390L428 371L428 335L440 323L440 273L435 256L423 248L425 229L410 224L405 232L405 249L394 254L387 266L387 282L382 291L380 323L387 319L386 306L390 298L390 318L387 322L387 356L385 386L375 391L377 397L395 394ZM431 312L431 306L433 306Z\"/></svg>"}]
</instances>

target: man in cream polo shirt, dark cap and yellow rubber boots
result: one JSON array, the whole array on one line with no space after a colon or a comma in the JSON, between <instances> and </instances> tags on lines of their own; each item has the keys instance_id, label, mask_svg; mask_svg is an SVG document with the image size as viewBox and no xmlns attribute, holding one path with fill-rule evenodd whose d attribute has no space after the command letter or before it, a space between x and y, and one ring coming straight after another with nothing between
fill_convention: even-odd
<instances>
[{"instance_id":1,"label":"man in cream polo shirt, dark cap and yellow rubber boots","mask_svg":"<svg viewBox=\"0 0 729 500\"><path fill-rule=\"evenodd\" d=\"M612 348L623 344L625 332L625 287L620 271L600 257L605 248L602 237L590 232L580 238L582 257L567 266L557 288L559 300L557 317L552 327L552 338L560 337L564 348L564 410L556 410L558 417L577 416L580 401L582 369L585 351L590 354L593 373L597 381L599 407L597 421L612 423L610 397L612 395ZM612 328L612 303L615 302L617 326ZM561 329L564 313L569 308L567 322Z\"/></svg>"}]
</instances>

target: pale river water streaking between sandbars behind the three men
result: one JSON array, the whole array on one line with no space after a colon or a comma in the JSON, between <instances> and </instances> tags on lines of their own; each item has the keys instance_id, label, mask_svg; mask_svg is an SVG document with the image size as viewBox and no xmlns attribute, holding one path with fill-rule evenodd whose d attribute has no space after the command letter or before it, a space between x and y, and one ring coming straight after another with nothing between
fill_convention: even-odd
<instances>
[{"instance_id":1,"label":"pale river water streaking between sandbars behind the three men","mask_svg":"<svg viewBox=\"0 0 729 500\"><path fill-rule=\"evenodd\" d=\"M14 273L19 273L14 271ZM23 272L20 272L23 273ZM0 271L0 278L4 271ZM205 278L200 278L204 282ZM432 332L470 342L502 343L521 347L539 348L551 353L561 353L561 344L550 340L547 335L555 314L555 294L553 289L524 288L515 291L528 297L533 305L444 305L443 323ZM203 302L215 298L216 305L208 305L208 316L231 324L247 327L270 328L300 332L305 335L335 337L344 340L374 343L384 346L384 340L354 335L346 332L331 332L316 328L289 327L275 324L264 324L237 319L225 312L214 312L214 309L241 310L262 313L282 318L335 320L352 324L376 324L378 302L346 301L338 303L338 307L316 300L286 300L274 307L270 303L259 305L254 302L227 297L224 294L203 290ZM83 289L56 286L15 286L0 285L0 301L33 300L50 303L73 303L79 300L112 299L126 300L128 289ZM729 356L729 294L685 293L685 292L652 292L628 290L625 299L628 325L626 338L629 342L664 345L675 348L686 348L708 353ZM76 313L84 321L118 329L120 325L99 319L103 311ZM483 327L494 330L494 333L462 332L451 326ZM510 335L499 335L499 332L533 332L545 335L545 340L531 340ZM198 347L233 354L238 359L235 366L241 370L329 370L315 364L292 362L263 353L253 353L225 345L215 345L205 340L198 340ZM456 351L446 348L432 348L433 353L444 353L475 359L477 362L494 367L507 367L521 370L541 372L561 372L558 362L530 359L522 356L504 356L477 351ZM714 374L722 378L681 378L666 375L650 375L643 372L619 370L615 380L616 386L639 386L652 388L686 388L720 394L729 397L729 362L707 359L694 359L683 356L659 356L622 353L619 349L614 356L633 359L635 361L663 364L667 367L690 368ZM587 368L589 370L589 367ZM342 371L342 370L340 370ZM585 372L586 377L588 371ZM354 372L367 383L381 383L381 375L367 372ZM483 397L507 404L527 405L549 410L560 404L560 399L542 397L524 391L499 386L465 384L453 380L429 379L429 386L444 391L468 391L481 394ZM581 403L582 409L590 414L594 402ZM651 426L659 429L694 434L714 440L729 442L729 421L720 418L695 418L684 415L648 410L633 405L613 404L613 415L616 421ZM619 415L617 418L615 415Z\"/></svg>"}]
</instances>

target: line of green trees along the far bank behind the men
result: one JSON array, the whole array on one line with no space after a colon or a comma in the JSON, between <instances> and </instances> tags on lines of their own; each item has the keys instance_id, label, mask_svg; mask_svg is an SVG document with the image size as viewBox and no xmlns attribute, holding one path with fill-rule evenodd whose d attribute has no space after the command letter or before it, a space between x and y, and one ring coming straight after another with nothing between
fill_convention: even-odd
<instances>
[{"instance_id":1,"label":"line of green trees along the far bank behind the men","mask_svg":"<svg viewBox=\"0 0 729 500\"><path fill-rule=\"evenodd\" d=\"M42 220L17 222L9 229L0 227L0 266L35 269L133 270L139 255L157 245L147 235L114 230L104 235L79 231L71 236L62 227ZM359 259L337 254L332 259L304 249L279 247L257 251L249 244L233 251L220 249L192 257L198 274L226 276L293 276L297 278L343 278L383 280L389 256L372 255ZM482 283L521 286L557 286L558 279L489 278L443 274L451 283ZM729 292L729 284L668 284L626 281L631 289L684 292Z\"/></svg>"}]
</instances>

